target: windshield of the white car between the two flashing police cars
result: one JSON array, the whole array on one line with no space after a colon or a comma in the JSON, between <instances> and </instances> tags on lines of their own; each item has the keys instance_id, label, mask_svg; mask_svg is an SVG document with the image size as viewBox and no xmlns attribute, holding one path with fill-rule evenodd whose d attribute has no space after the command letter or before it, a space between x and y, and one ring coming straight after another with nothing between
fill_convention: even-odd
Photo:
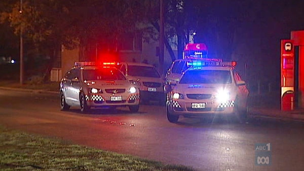
<instances>
[{"instance_id":1,"label":"windshield of the white car between the two flashing police cars","mask_svg":"<svg viewBox=\"0 0 304 171\"><path fill-rule=\"evenodd\" d=\"M129 65L128 75L137 76L137 77L153 77L153 78L161 77L160 74L155 69L155 67L137 66L137 65Z\"/></svg>"}]
</instances>

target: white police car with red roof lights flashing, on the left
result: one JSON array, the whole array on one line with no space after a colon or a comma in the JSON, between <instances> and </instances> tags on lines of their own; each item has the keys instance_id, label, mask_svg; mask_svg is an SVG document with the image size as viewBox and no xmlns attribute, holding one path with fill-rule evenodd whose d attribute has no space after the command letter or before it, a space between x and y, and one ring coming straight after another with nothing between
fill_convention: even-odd
<instances>
[{"instance_id":1,"label":"white police car with red roof lights flashing, on the left","mask_svg":"<svg viewBox=\"0 0 304 171\"><path fill-rule=\"evenodd\" d=\"M60 82L62 110L129 107L131 112L137 112L139 95L138 86L116 67L94 62L75 62Z\"/></svg>"}]
</instances>

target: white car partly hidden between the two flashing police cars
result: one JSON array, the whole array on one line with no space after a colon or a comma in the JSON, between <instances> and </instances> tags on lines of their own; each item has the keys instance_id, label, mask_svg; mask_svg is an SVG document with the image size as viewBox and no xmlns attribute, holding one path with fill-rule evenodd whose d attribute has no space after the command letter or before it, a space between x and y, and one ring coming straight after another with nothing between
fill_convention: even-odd
<instances>
[{"instance_id":1,"label":"white car partly hidden between the two flashing police cars","mask_svg":"<svg viewBox=\"0 0 304 171\"><path fill-rule=\"evenodd\" d=\"M137 81L140 89L140 101L156 100L165 104L164 81L156 67L139 62L119 62L118 69L129 81Z\"/></svg>"}]
</instances>

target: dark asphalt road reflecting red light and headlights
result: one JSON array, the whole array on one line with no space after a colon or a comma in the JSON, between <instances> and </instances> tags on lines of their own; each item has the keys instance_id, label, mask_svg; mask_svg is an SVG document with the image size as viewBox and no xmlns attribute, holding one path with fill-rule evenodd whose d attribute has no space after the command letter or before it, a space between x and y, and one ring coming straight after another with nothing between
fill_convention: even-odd
<instances>
[{"instance_id":1,"label":"dark asphalt road reflecting red light and headlights","mask_svg":"<svg viewBox=\"0 0 304 171\"><path fill-rule=\"evenodd\" d=\"M304 125L229 118L166 120L165 107L143 105L81 114L60 111L55 95L0 90L0 124L72 143L131 154L198 170L303 170ZM271 165L255 165L255 144L271 143Z\"/></svg>"}]
</instances>

